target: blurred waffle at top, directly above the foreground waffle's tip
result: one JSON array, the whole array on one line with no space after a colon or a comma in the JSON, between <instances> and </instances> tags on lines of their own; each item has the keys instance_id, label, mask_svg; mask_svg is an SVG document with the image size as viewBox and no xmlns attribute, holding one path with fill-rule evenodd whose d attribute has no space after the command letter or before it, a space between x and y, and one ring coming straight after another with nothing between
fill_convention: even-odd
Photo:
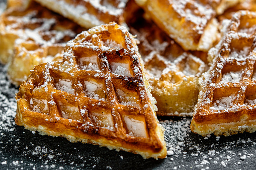
<instances>
[{"instance_id":1,"label":"blurred waffle at top, directly above the foreground waffle's tip","mask_svg":"<svg viewBox=\"0 0 256 170\"><path fill-rule=\"evenodd\" d=\"M128 0L35 0L84 28L109 22L124 24L124 9Z\"/></svg>"}]
</instances>

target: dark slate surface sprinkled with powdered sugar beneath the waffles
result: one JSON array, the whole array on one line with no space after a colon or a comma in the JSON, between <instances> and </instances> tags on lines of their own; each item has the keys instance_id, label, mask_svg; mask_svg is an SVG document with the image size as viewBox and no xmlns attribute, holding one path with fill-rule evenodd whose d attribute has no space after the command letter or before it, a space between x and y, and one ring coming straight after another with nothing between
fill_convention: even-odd
<instances>
[{"instance_id":1,"label":"dark slate surface sprinkled with powdered sugar beneath the waffles","mask_svg":"<svg viewBox=\"0 0 256 170\"><path fill-rule=\"evenodd\" d=\"M6 77L5 66L0 65L0 169L256 168L256 133L204 138L190 131L191 118L158 117L166 129L167 150L173 150L158 160L42 136L15 124L17 92Z\"/></svg>"}]
</instances>

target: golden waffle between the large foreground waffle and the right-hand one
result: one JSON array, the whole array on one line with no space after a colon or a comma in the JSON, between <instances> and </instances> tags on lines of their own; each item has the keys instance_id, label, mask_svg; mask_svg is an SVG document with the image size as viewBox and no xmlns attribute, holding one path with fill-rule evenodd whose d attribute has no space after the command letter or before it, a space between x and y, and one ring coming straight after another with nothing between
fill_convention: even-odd
<instances>
[{"instance_id":1,"label":"golden waffle between the large foreground waffle and the right-hand one","mask_svg":"<svg viewBox=\"0 0 256 170\"><path fill-rule=\"evenodd\" d=\"M157 115L192 116L204 62L185 52L153 23L141 19L133 26L130 31L140 41L139 52L157 101Z\"/></svg>"}]
</instances>

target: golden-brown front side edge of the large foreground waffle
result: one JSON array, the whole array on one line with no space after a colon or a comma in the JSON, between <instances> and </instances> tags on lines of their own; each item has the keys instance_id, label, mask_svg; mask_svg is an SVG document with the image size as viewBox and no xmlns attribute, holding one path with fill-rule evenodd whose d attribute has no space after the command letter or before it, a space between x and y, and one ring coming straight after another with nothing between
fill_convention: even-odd
<instances>
[{"instance_id":1,"label":"golden-brown front side edge of the large foreground waffle","mask_svg":"<svg viewBox=\"0 0 256 170\"><path fill-rule=\"evenodd\" d=\"M29 110L24 110L23 99L18 101L17 115L15 118L17 125L24 125L24 127L31 131L38 131L41 135L60 136L67 138L70 142L91 143L100 146L106 146L109 149L124 150L142 155L143 158L165 158L166 150L161 149L160 152L151 152L148 148L137 145L134 143L122 142L116 138L105 138L98 134L84 133L84 129L77 126L76 121L70 119L59 118L58 120L50 119L48 115L38 114ZM22 111L21 111L22 109ZM37 114L37 116L33 116ZM47 119L48 118L48 119ZM163 139L161 129L157 126L156 133L159 138ZM113 137L113 136L112 136ZM164 142L164 141L161 141Z\"/></svg>"}]
</instances>

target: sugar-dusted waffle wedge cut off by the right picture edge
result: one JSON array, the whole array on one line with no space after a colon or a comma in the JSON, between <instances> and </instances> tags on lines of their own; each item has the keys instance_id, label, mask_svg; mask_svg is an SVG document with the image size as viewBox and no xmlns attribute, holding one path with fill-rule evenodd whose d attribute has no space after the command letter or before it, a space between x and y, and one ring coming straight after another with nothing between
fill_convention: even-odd
<instances>
[{"instance_id":1,"label":"sugar-dusted waffle wedge cut off by the right picture edge","mask_svg":"<svg viewBox=\"0 0 256 170\"><path fill-rule=\"evenodd\" d=\"M212 66L200 80L191 130L206 136L256 130L256 13L233 15L223 40L209 52Z\"/></svg>"}]
</instances>

